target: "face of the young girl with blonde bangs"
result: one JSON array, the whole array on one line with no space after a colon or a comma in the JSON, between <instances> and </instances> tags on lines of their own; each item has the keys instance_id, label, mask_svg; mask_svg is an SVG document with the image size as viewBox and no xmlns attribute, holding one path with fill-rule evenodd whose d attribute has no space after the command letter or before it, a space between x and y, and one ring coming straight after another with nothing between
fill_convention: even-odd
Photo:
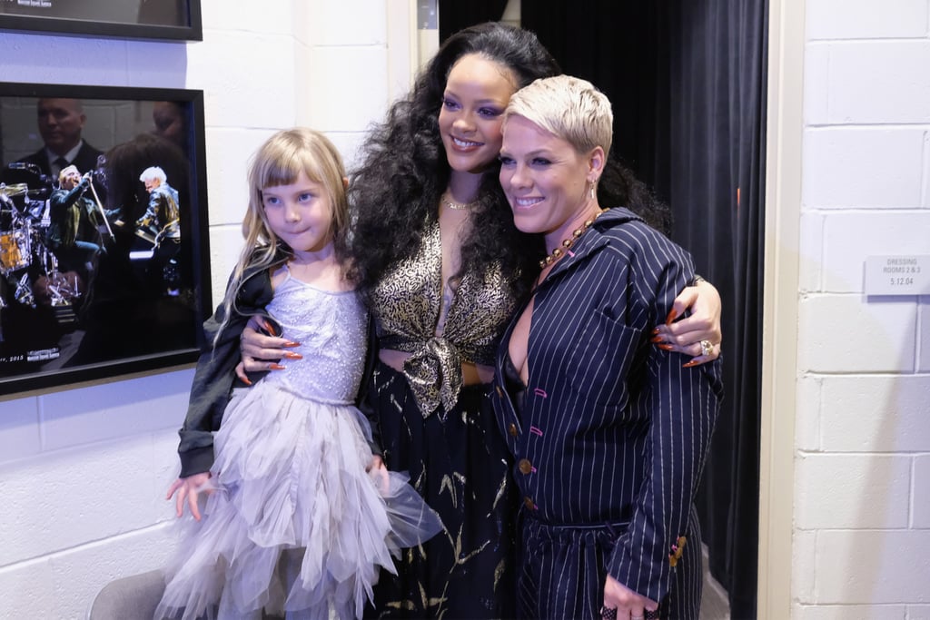
<instances>
[{"instance_id":1,"label":"face of the young girl with blonde bangs","mask_svg":"<svg viewBox=\"0 0 930 620\"><path fill-rule=\"evenodd\" d=\"M333 210L326 188L301 172L289 185L261 191L261 203L272 232L295 252L319 252L333 240Z\"/></svg>"}]
</instances>

